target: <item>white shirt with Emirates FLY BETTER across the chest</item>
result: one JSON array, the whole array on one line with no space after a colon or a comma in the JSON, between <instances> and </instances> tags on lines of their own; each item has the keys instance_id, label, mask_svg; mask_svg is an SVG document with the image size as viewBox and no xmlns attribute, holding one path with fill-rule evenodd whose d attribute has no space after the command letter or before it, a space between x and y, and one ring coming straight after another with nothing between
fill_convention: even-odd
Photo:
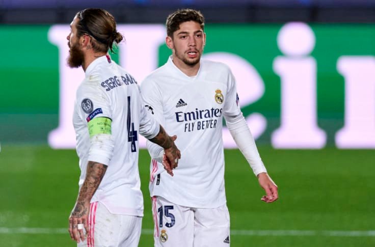
<instances>
[{"instance_id":1,"label":"white shirt with Emirates FLY BETTER across the chest","mask_svg":"<svg viewBox=\"0 0 375 247\"><path fill-rule=\"evenodd\" d=\"M170 58L141 84L146 107L181 151L174 176L151 161L151 196L175 204L216 208L226 203L224 188L223 116L242 115L235 79L228 66L201 60L198 74L189 77ZM154 144L148 143L148 147ZM150 150L150 149L149 149ZM262 161L261 166L263 166Z\"/></svg>"}]
</instances>

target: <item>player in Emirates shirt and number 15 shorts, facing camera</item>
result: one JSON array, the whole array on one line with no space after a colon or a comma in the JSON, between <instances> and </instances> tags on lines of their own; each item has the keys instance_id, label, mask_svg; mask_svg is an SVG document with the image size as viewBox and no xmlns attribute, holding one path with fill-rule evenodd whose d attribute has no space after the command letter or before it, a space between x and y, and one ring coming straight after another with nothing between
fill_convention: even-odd
<instances>
[{"instance_id":1,"label":"player in Emirates shirt and number 15 shorts, facing camera","mask_svg":"<svg viewBox=\"0 0 375 247\"><path fill-rule=\"evenodd\" d=\"M238 106L235 78L223 63L201 60L203 15L178 10L167 18L168 62L141 84L145 105L167 131L179 136L182 158L174 176L163 169L163 149L150 142L150 193L155 246L229 246L229 213L224 187L223 117L266 196L278 199L253 136Z\"/></svg>"}]
</instances>

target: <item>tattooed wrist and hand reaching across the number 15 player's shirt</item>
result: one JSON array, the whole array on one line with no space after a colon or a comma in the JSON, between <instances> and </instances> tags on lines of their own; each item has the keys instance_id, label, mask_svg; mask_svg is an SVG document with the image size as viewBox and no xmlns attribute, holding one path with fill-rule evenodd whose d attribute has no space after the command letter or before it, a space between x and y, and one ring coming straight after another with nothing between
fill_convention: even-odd
<instances>
[{"instance_id":1,"label":"tattooed wrist and hand reaching across the number 15 player's shirt","mask_svg":"<svg viewBox=\"0 0 375 247\"><path fill-rule=\"evenodd\" d=\"M150 142L164 148L163 166L171 176L173 176L172 169L177 167L178 159L181 158L180 150L174 144L176 139L177 136L169 136L162 125L160 125L159 133L154 138L149 139Z\"/></svg>"}]
</instances>

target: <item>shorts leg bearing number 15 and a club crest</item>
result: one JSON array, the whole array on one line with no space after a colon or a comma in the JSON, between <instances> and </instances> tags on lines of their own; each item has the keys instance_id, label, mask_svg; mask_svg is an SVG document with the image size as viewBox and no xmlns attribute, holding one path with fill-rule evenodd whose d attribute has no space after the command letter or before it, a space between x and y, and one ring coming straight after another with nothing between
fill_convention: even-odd
<instances>
[{"instance_id":1,"label":"shorts leg bearing number 15 and a club crest","mask_svg":"<svg viewBox=\"0 0 375 247\"><path fill-rule=\"evenodd\" d=\"M192 247L194 212L162 197L152 198L155 247Z\"/></svg>"}]
</instances>

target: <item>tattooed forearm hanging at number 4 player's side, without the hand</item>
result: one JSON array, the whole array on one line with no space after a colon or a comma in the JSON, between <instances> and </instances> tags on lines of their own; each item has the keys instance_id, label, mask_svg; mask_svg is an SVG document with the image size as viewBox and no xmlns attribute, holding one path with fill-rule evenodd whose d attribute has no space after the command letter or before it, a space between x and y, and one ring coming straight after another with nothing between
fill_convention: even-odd
<instances>
[{"instance_id":1,"label":"tattooed forearm hanging at number 4 player's side, without the hand","mask_svg":"<svg viewBox=\"0 0 375 247\"><path fill-rule=\"evenodd\" d=\"M85 205L90 203L96 189L99 187L101 180L105 174L107 166L94 161L89 161L87 164L86 178L79 190L77 202L75 204L73 213L84 214L88 210ZM78 216L78 215L76 215ZM79 216L78 216L79 217Z\"/></svg>"}]
</instances>

